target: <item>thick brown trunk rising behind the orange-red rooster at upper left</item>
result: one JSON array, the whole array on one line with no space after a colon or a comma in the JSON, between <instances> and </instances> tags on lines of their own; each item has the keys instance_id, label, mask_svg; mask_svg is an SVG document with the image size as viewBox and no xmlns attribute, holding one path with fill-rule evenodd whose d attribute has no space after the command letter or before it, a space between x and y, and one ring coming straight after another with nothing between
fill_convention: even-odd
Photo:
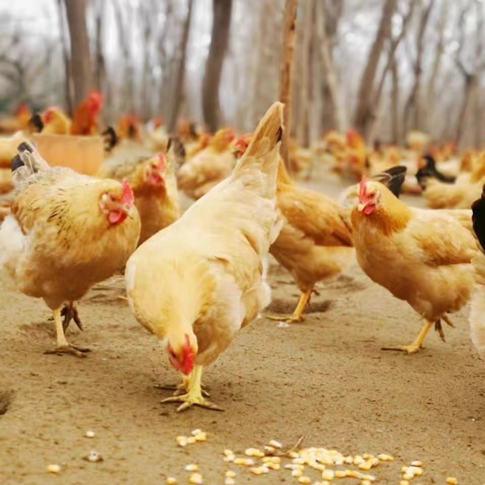
<instances>
[{"instance_id":1,"label":"thick brown trunk rising behind the orange-red rooster at upper left","mask_svg":"<svg viewBox=\"0 0 485 485\"><path fill-rule=\"evenodd\" d=\"M71 38L71 67L74 105L81 103L91 88L91 58L86 28L86 1L65 0Z\"/></svg>"}]
</instances>

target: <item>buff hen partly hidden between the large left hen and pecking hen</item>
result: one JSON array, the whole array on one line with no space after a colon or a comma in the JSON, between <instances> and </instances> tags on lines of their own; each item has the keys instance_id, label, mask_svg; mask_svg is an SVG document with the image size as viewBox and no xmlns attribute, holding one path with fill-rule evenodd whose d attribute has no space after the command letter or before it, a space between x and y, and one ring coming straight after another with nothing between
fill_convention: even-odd
<instances>
[{"instance_id":1,"label":"buff hen partly hidden between the large left hen and pecking hen","mask_svg":"<svg viewBox=\"0 0 485 485\"><path fill-rule=\"evenodd\" d=\"M167 156L160 153L148 158L130 158L125 162L105 161L98 171L101 178L126 178L129 181L141 219L138 244L180 217L174 166L182 151L182 144L174 139Z\"/></svg>"}]
</instances>

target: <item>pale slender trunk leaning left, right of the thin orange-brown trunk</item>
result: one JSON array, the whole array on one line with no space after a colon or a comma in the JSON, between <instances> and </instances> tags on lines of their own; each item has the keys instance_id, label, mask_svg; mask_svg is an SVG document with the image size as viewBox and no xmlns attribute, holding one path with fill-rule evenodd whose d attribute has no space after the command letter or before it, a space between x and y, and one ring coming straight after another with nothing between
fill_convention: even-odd
<instances>
[{"instance_id":1,"label":"pale slender trunk leaning left, right of the thin orange-brown trunk","mask_svg":"<svg viewBox=\"0 0 485 485\"><path fill-rule=\"evenodd\" d=\"M323 28L326 25L325 5L324 3L319 2L319 6L320 12L317 14L317 35L320 44L323 67L325 69L325 95L328 96L326 101L329 102L328 110L331 113L332 127L336 128L338 131L344 131L347 125L345 109L338 92L338 78L335 65L333 64L330 39L327 35L326 29Z\"/></svg>"}]
</instances>

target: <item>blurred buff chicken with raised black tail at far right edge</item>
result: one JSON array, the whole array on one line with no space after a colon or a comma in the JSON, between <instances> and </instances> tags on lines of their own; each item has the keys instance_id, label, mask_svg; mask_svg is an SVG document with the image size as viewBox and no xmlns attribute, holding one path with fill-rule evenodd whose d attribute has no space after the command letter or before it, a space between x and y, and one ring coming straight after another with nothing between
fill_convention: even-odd
<instances>
[{"instance_id":1,"label":"blurred buff chicken with raised black tail at far right edge","mask_svg":"<svg viewBox=\"0 0 485 485\"><path fill-rule=\"evenodd\" d=\"M426 165L418 170L416 178L423 188L428 207L469 209L480 197L485 181L485 153L478 157L471 172L462 172L456 178L442 174L431 157L425 159Z\"/></svg>"}]
</instances>

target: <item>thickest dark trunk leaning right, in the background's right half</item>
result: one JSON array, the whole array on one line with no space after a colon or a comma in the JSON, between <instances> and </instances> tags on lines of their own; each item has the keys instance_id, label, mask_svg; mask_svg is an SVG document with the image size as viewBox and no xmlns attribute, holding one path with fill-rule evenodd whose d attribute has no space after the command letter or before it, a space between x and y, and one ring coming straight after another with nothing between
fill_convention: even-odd
<instances>
[{"instance_id":1,"label":"thickest dark trunk leaning right, in the background's right half","mask_svg":"<svg viewBox=\"0 0 485 485\"><path fill-rule=\"evenodd\" d=\"M372 93L374 79L377 73L380 56L384 43L391 35L391 20L397 7L397 0L385 0L382 17L379 22L377 34L372 44L367 64L360 80L357 96L357 107L354 114L355 128L365 134L368 131L368 123L373 116Z\"/></svg>"}]
</instances>

